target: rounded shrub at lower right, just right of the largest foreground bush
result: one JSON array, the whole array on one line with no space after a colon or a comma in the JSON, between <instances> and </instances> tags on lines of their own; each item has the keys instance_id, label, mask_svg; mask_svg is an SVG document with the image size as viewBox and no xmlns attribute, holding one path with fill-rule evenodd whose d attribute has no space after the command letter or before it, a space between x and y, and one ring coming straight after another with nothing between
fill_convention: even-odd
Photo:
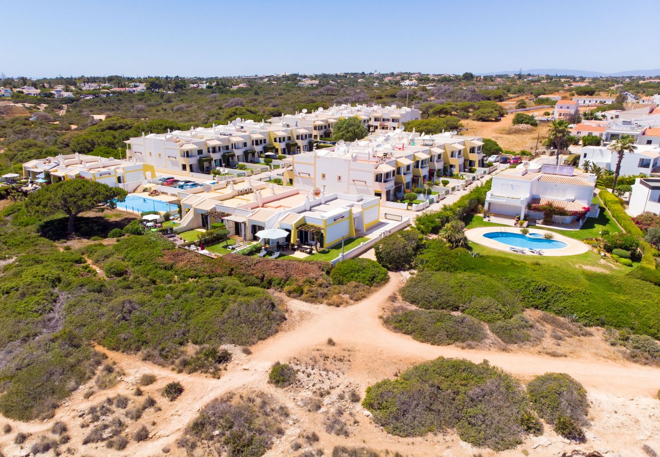
<instances>
[{"instance_id":1,"label":"rounded shrub at lower right, just right of the largest foreground bush","mask_svg":"<svg viewBox=\"0 0 660 457\"><path fill-rule=\"evenodd\" d=\"M537 376L527 384L527 394L532 407L547 423L556 427L559 419L564 417L578 427L587 424L587 395L582 385L568 374L546 373Z\"/></svg>"}]
</instances>

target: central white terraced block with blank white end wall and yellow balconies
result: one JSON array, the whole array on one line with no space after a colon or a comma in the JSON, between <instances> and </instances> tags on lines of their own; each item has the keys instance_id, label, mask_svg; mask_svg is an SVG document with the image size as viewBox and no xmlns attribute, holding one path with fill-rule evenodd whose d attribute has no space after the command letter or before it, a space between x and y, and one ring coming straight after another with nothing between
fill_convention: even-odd
<instances>
[{"instance_id":1,"label":"central white terraced block with blank white end wall and yellow balconies","mask_svg":"<svg viewBox=\"0 0 660 457\"><path fill-rule=\"evenodd\" d=\"M482 166L479 137L397 131L292 157L288 184L306 190L377 195L391 201L424 182Z\"/></svg>"}]
</instances>

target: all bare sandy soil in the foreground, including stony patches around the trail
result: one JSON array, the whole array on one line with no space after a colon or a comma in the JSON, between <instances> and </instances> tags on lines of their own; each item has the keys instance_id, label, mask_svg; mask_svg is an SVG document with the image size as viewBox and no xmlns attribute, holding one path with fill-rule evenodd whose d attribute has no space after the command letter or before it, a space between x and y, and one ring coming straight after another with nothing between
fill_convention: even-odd
<instances>
[{"instance_id":1,"label":"all bare sandy soil in the foreground, including stony patches around the trail","mask_svg":"<svg viewBox=\"0 0 660 457\"><path fill-rule=\"evenodd\" d=\"M46 422L11 424L11 433L0 435L0 449L6 456L24 456L41 435L49 435L54 421L64 421L71 440L60 446L70 447L75 455L183 456L185 451L174 444L183 429L205 404L225 392L267 392L286 405L290 417L282 423L283 435L267 455L300 455L305 450L323 449L330 455L336 445L367 446L379 452L399 452L405 456L483 456L496 455L487 449L473 448L461 442L455 433L399 438L387 435L375 425L360 402L348 396L354 390L364 398L364 390L382 378L393 378L399 372L436 357L461 357L474 362L484 359L527 382L545 372L566 372L585 386L591 409L587 441L567 442L550 427L545 435L532 437L515 450L502 456L557 456L574 449L597 450L604 455L642 455L642 445L660 451L660 402L655 397L660 388L660 368L635 365L627 361L620 349L609 346L599 328L587 331L562 318L530 310L527 315L537 324L535 342L522 346L490 343L474 347L433 346L414 341L407 335L391 332L383 326L381 316L387 314L398 300L391 299L403 285L404 275L390 274L390 281L374 295L352 306L334 308L288 299L288 322L281 332L251 347L245 355L230 347L234 358L219 379L201 374L176 373L142 361L138 355L126 355L98 347L116 363L123 374L116 386L99 391L91 381L81 386L63 404L53 419ZM333 344L328 343L328 339ZM268 384L273 363L288 362L298 369L298 380L288 388ZM128 421L127 433L146 425L149 439L129 442L123 451L110 450L103 443L82 444L90 430L81 429L88 419L79 417L91 405L106 397L123 394L135 400L133 392L142 374L153 373L156 382L143 387L158 402L160 411L150 408L138 421ZM185 389L182 396L169 402L160 396L160 389L178 380ZM88 388L95 393L83 398ZM144 396L142 397L144 398ZM138 399L141 401L141 398ZM0 425L5 420L0 419ZM328 427L331 424L333 427ZM328 431L330 430L330 431ZM331 433L339 430L340 435ZM319 442L308 443L301 437L314 431ZM24 444L14 444L16 433L31 433ZM348 435L348 436L345 436ZM51 435L50 435L51 436ZM292 443L300 442L300 450ZM51 455L52 455L52 451Z\"/></svg>"}]
</instances>

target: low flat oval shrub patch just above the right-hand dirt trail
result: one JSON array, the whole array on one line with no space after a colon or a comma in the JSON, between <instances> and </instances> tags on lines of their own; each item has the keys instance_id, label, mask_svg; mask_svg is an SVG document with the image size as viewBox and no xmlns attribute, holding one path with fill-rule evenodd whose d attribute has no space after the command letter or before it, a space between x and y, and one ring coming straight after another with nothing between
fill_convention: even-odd
<instances>
[{"instance_id":1,"label":"low flat oval shrub patch just above the right-hand dirt trail","mask_svg":"<svg viewBox=\"0 0 660 457\"><path fill-rule=\"evenodd\" d=\"M434 345L482 341L486 336L478 320L455 316L446 311L410 310L393 314L385 324L411 335L417 341Z\"/></svg>"}]
</instances>

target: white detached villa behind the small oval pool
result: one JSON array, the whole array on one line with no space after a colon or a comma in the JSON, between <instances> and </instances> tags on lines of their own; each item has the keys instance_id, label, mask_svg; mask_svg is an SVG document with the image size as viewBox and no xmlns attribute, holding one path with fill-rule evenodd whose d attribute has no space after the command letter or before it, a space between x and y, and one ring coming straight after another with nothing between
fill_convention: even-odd
<instances>
[{"instance_id":1,"label":"white detached villa behind the small oval pool","mask_svg":"<svg viewBox=\"0 0 660 457\"><path fill-rule=\"evenodd\" d=\"M523 162L493 176L484 211L492 215L519 216L521 220L530 217L541 220L543 214L531 211L531 207L552 203L580 214L591 207L595 186L595 174L580 172L575 167ZM574 219L574 216L566 216L556 222L571 223Z\"/></svg>"}]
</instances>

